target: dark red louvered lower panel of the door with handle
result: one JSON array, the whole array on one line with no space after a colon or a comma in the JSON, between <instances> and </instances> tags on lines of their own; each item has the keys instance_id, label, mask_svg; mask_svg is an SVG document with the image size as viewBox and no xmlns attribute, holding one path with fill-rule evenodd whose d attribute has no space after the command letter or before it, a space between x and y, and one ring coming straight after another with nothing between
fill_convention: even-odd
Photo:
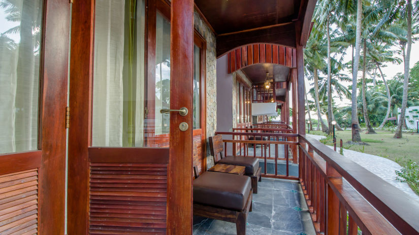
<instances>
[{"instance_id":1,"label":"dark red louvered lower panel of the door with handle","mask_svg":"<svg viewBox=\"0 0 419 235\"><path fill-rule=\"evenodd\" d=\"M166 234L167 164L90 163L90 234Z\"/></svg>"}]
</instances>

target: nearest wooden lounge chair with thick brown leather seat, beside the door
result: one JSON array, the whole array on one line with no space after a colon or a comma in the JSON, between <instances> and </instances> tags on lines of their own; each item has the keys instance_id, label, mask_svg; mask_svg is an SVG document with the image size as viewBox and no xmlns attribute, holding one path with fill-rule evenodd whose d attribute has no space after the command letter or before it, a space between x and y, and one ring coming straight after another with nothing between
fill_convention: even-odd
<instances>
[{"instance_id":1,"label":"nearest wooden lounge chair with thick brown leather seat, beside the door","mask_svg":"<svg viewBox=\"0 0 419 235\"><path fill-rule=\"evenodd\" d=\"M237 235L245 235L252 211L249 177L211 171L199 176L197 167L194 174L194 215L236 223Z\"/></svg>"}]
</instances>

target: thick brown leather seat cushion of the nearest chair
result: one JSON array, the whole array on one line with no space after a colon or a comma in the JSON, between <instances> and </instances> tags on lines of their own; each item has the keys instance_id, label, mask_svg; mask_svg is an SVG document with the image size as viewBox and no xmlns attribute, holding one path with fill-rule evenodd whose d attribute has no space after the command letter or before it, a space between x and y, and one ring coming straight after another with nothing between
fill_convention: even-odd
<instances>
[{"instance_id":1,"label":"thick brown leather seat cushion of the nearest chair","mask_svg":"<svg viewBox=\"0 0 419 235\"><path fill-rule=\"evenodd\" d=\"M194 203L242 211L250 188L248 176L207 171L194 180Z\"/></svg>"}]
</instances>

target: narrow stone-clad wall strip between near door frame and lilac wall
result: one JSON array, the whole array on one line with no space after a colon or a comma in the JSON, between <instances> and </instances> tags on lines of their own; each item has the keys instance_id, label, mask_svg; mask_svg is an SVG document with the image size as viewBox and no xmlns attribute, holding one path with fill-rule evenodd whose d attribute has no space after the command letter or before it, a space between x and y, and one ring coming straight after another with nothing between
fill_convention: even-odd
<instances>
[{"instance_id":1,"label":"narrow stone-clad wall strip between near door frame and lilac wall","mask_svg":"<svg viewBox=\"0 0 419 235\"><path fill-rule=\"evenodd\" d=\"M213 136L215 130L217 129L217 84L216 84L216 51L215 51L215 35L202 20L201 16L195 11L194 12L194 26L195 29L204 37L207 42L206 50L206 99L207 99L207 167L214 165L210 150L209 150L209 136Z\"/></svg>"}]
</instances>

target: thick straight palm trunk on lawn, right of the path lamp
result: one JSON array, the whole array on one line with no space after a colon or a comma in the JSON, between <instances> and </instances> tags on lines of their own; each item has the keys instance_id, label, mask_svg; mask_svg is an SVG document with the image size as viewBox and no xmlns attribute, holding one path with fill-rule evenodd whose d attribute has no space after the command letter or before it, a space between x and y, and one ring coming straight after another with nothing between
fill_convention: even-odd
<instances>
[{"instance_id":1,"label":"thick straight palm trunk on lawn, right of the path lamp","mask_svg":"<svg viewBox=\"0 0 419 235\"><path fill-rule=\"evenodd\" d=\"M358 80L358 66L360 63L360 50L361 50L361 20L362 20L362 0L358 0L357 3L357 32L355 40L355 56L353 58L352 67L352 141L360 142L361 135L359 131L358 123L358 102L357 102L357 80Z\"/></svg>"}]
</instances>

